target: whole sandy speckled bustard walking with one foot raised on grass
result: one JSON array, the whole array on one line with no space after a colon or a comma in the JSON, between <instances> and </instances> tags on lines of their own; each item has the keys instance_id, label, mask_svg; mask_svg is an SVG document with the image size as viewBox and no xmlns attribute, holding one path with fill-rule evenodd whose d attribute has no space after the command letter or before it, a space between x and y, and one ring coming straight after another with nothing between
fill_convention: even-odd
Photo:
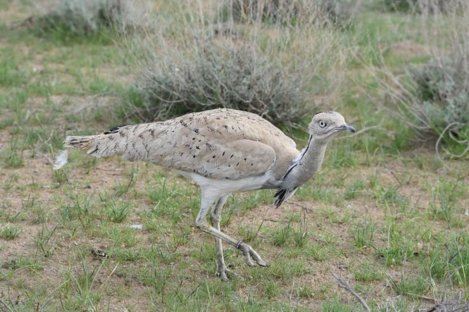
<instances>
[{"instance_id":1,"label":"whole sandy speckled bustard walking with one foot raised on grass","mask_svg":"<svg viewBox=\"0 0 469 312\"><path fill-rule=\"evenodd\" d=\"M217 109L187 114L168 121L123 125L94 136L68 136L65 147L88 149L101 158L121 155L174 169L201 188L201 207L195 223L215 236L217 275L228 280L221 242L241 250L246 264L267 264L250 245L220 230L221 209L233 192L277 189L275 206L310 180L323 162L326 146L344 131L355 132L337 112L320 112L308 127L308 145L301 152L280 129L256 114ZM54 169L67 161L57 157ZM210 211L212 226L206 220Z\"/></svg>"}]
</instances>

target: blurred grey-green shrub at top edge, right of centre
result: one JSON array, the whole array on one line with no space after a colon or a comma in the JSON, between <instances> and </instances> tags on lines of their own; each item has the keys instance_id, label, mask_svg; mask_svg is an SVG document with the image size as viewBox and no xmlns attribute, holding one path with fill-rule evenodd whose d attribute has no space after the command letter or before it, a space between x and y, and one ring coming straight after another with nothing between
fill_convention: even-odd
<instances>
[{"instance_id":1,"label":"blurred grey-green shrub at top edge, right of centre","mask_svg":"<svg viewBox=\"0 0 469 312\"><path fill-rule=\"evenodd\" d=\"M352 19L352 1L347 0L234 0L226 1L226 10L238 21L270 21L348 25Z\"/></svg>"}]
</instances>

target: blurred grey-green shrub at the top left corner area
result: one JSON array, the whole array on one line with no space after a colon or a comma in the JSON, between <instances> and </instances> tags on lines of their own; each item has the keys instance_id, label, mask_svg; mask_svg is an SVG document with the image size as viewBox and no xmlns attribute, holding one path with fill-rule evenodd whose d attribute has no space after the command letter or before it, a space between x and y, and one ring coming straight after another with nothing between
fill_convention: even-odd
<instances>
[{"instance_id":1,"label":"blurred grey-green shrub at the top left corner area","mask_svg":"<svg viewBox=\"0 0 469 312\"><path fill-rule=\"evenodd\" d=\"M103 28L124 31L141 23L137 17L146 6L148 3L132 0L59 0L49 12L35 19L33 29L39 34L66 32L78 36L94 34Z\"/></svg>"}]
</instances>

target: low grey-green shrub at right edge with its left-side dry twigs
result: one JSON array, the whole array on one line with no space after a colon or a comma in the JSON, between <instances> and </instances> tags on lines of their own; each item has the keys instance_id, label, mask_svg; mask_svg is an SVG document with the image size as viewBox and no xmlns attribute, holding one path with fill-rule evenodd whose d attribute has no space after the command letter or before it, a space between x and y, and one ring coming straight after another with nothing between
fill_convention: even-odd
<instances>
[{"instance_id":1,"label":"low grey-green shrub at right edge with its left-side dry twigs","mask_svg":"<svg viewBox=\"0 0 469 312\"><path fill-rule=\"evenodd\" d=\"M435 56L423 65L409 66L406 74L380 81L396 105L386 107L425 140L436 141L437 153L452 156L469 150L469 54Z\"/></svg>"}]
</instances>

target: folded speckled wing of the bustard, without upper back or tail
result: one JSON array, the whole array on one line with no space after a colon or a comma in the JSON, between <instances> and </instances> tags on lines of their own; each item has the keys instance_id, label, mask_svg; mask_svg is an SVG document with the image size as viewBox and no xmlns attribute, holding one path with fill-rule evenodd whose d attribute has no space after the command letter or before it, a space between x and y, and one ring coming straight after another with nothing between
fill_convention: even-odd
<instances>
[{"instance_id":1,"label":"folded speckled wing of the bustard, without upper back or tail","mask_svg":"<svg viewBox=\"0 0 469 312\"><path fill-rule=\"evenodd\" d=\"M129 127L121 129L132 130L132 139L121 153L123 158L146 160L206 178L238 180L261 175L276 159L272 147L242 135L208 135L203 129L168 123Z\"/></svg>"}]
</instances>

